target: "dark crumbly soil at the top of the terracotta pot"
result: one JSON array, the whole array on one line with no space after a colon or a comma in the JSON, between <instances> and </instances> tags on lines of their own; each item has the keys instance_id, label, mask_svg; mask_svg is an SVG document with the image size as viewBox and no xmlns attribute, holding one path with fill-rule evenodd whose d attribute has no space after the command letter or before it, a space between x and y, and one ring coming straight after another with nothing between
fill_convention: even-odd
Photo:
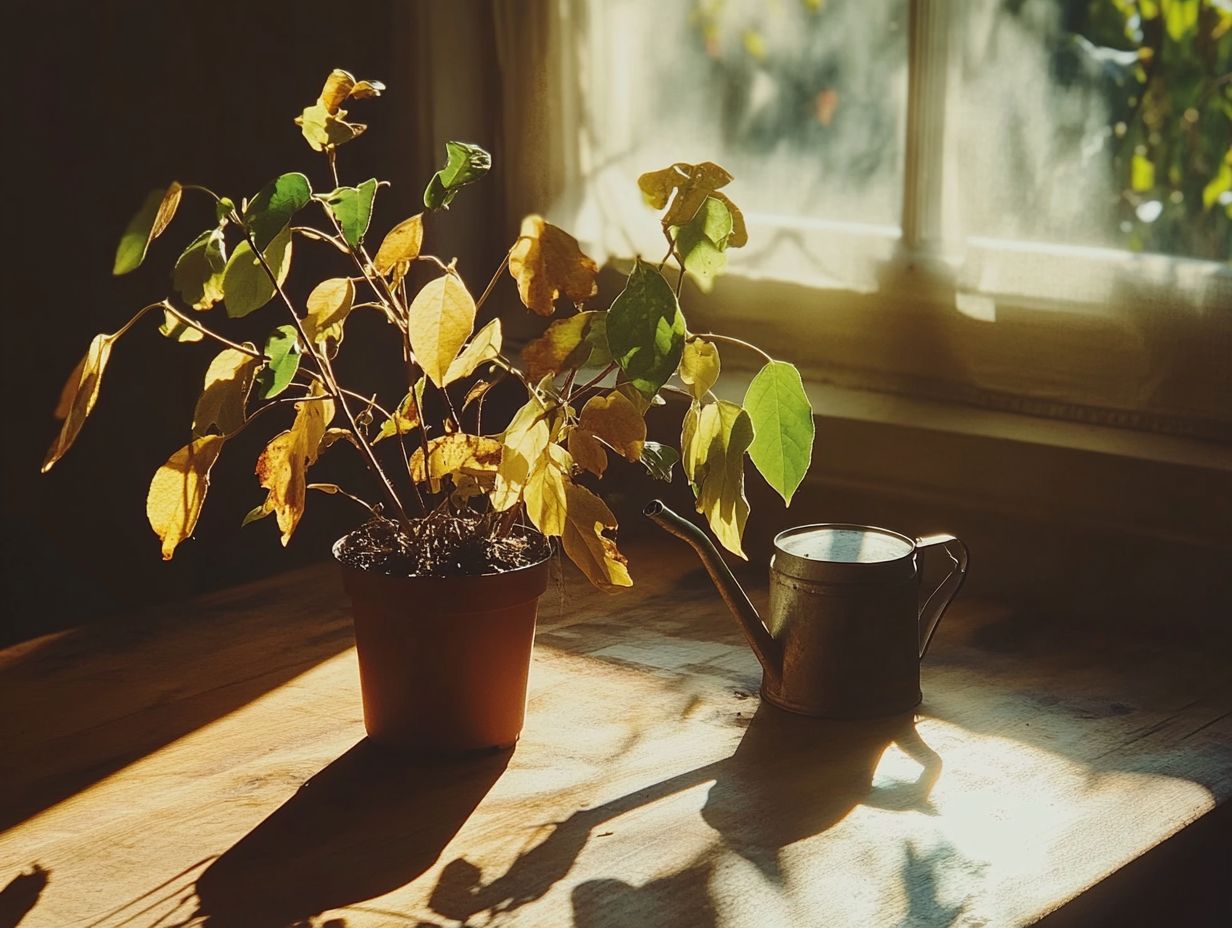
<instances>
[{"instance_id":1,"label":"dark crumbly soil at the top of the terracotta pot","mask_svg":"<svg viewBox=\"0 0 1232 928\"><path fill-rule=\"evenodd\" d=\"M538 534L490 536L479 515L415 520L410 529L376 516L342 539L338 560L392 577L476 577L530 567L552 552Z\"/></svg>"}]
</instances>

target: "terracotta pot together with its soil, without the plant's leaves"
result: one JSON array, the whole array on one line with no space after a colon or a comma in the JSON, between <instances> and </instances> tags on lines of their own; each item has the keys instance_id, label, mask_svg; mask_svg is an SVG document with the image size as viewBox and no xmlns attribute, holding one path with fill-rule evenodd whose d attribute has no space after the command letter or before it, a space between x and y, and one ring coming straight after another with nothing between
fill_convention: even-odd
<instances>
[{"instance_id":1,"label":"terracotta pot together with its soil, without the plant's leaves","mask_svg":"<svg viewBox=\"0 0 1232 928\"><path fill-rule=\"evenodd\" d=\"M521 733L542 535L489 537L466 518L414 536L375 519L334 555L351 596L368 737L416 753L508 748Z\"/></svg>"}]
</instances>

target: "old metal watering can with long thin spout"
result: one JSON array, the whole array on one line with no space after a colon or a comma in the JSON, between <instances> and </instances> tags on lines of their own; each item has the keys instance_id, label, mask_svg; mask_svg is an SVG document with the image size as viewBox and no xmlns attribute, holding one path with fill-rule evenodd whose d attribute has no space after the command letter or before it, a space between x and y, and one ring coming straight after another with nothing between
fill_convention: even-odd
<instances>
[{"instance_id":1,"label":"old metal watering can with long thin spout","mask_svg":"<svg viewBox=\"0 0 1232 928\"><path fill-rule=\"evenodd\" d=\"M920 701L920 661L967 576L954 535L909 539L871 525L828 523L779 532L765 622L710 539L655 499L647 518L686 541L761 662L761 695L788 712L870 718ZM920 605L919 556L944 552L950 572Z\"/></svg>"}]
</instances>

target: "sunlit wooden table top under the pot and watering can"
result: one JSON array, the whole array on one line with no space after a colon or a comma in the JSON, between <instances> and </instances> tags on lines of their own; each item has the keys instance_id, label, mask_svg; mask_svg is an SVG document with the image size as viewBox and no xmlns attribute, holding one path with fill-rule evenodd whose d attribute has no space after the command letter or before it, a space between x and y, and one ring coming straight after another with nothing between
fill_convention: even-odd
<instances>
[{"instance_id":1,"label":"sunlit wooden table top under the pot and watering can","mask_svg":"<svg viewBox=\"0 0 1232 928\"><path fill-rule=\"evenodd\" d=\"M328 566L0 652L0 926L1016 926L1226 811L1226 633L960 598L915 717L829 723L683 546L632 560L548 590L466 762L363 741Z\"/></svg>"}]
</instances>

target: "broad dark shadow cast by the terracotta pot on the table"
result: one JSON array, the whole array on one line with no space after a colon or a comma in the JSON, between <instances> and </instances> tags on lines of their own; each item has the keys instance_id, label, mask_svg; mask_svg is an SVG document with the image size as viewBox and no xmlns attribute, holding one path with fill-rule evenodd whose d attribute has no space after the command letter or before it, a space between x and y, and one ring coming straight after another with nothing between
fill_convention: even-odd
<instances>
[{"instance_id":1,"label":"broad dark shadow cast by the terracotta pot on the table","mask_svg":"<svg viewBox=\"0 0 1232 928\"><path fill-rule=\"evenodd\" d=\"M416 759L359 742L197 879L193 917L205 928L286 928L405 886L511 753Z\"/></svg>"}]
</instances>

